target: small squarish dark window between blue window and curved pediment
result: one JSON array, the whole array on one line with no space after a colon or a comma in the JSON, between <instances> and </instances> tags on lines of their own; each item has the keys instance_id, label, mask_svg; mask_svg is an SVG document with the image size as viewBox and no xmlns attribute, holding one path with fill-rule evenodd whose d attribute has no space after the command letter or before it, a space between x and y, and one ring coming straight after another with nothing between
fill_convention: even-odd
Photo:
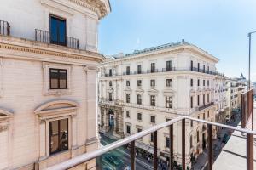
<instances>
[{"instance_id":1,"label":"small squarish dark window between blue window and curved pediment","mask_svg":"<svg viewBox=\"0 0 256 170\"><path fill-rule=\"evenodd\" d=\"M67 70L49 69L49 88L67 89Z\"/></svg>"}]
</instances>

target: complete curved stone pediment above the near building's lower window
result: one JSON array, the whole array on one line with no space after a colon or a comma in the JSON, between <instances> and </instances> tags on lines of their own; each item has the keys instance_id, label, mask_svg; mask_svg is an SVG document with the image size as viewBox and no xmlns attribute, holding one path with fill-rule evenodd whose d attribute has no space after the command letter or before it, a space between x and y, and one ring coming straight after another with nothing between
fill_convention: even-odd
<instances>
[{"instance_id":1,"label":"complete curved stone pediment above the near building's lower window","mask_svg":"<svg viewBox=\"0 0 256 170\"><path fill-rule=\"evenodd\" d=\"M38 106L34 111L40 119L76 115L79 104L71 100L54 100Z\"/></svg>"}]
</instances>

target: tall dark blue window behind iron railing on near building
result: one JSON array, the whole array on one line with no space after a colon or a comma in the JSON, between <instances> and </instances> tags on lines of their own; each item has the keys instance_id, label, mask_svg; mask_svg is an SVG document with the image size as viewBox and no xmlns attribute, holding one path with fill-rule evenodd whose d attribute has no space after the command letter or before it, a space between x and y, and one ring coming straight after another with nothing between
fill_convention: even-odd
<instances>
[{"instance_id":1,"label":"tall dark blue window behind iron railing on near building","mask_svg":"<svg viewBox=\"0 0 256 170\"><path fill-rule=\"evenodd\" d=\"M50 43L66 46L66 20L50 15Z\"/></svg>"}]
</instances>

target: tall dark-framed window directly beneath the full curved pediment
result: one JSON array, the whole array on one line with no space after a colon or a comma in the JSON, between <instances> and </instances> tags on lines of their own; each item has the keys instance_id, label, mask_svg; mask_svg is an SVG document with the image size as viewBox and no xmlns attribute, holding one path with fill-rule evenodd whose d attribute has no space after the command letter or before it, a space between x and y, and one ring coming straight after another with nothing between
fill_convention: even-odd
<instances>
[{"instance_id":1,"label":"tall dark-framed window directly beneath the full curved pediment","mask_svg":"<svg viewBox=\"0 0 256 170\"><path fill-rule=\"evenodd\" d=\"M68 150L68 119L49 122L49 152Z\"/></svg>"}]
</instances>

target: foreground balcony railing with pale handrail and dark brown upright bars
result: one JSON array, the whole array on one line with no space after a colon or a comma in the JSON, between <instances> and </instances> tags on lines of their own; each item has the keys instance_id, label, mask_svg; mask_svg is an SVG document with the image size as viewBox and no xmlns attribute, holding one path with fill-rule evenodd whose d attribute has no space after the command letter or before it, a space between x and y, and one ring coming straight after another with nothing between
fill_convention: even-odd
<instances>
[{"instance_id":1,"label":"foreground balcony railing with pale handrail and dark brown upright bars","mask_svg":"<svg viewBox=\"0 0 256 170\"><path fill-rule=\"evenodd\" d=\"M224 124L220 124L220 123L216 123L216 122L208 122L208 121L204 121L201 119L195 119L189 116L178 116L177 118L172 119L171 121L168 122L164 122L161 123L159 125L155 125L154 127L150 127L147 130L144 130L140 133L136 133L133 134L129 137L126 137L125 139L120 139L116 142L113 142L112 144L108 144L103 146L102 148L98 149L98 150L94 150L88 153L85 153L81 156L77 156L74 157L73 159L70 159L68 161L64 161L61 162L60 164L57 164L53 167L48 167L48 170L62 170L62 169L68 169L68 168L72 168L72 167L76 167L86 161L90 161L95 159L98 156L102 156L103 154L111 151L111 150L115 150L125 144L130 144L130 162L131 162L131 170L135 170L136 169L136 151L135 151L135 141L139 140L141 138L143 138L144 136L153 133L153 148L154 148L154 158L153 158L153 164L154 164L154 170L158 169L158 154L157 154L157 150L158 150L158 130L164 128L164 127L168 127L169 128L169 137L170 137L170 141L169 142L169 148L170 148L170 152L169 152L169 165L170 165L170 169L174 169L174 156L173 156L173 125L175 123L180 123L182 124L182 131L181 131L181 146L182 146L182 169L187 169L186 168L186 138L185 136L186 134L186 121L189 120L189 122L193 121L193 122L201 122L206 124L206 130L207 130L207 149L208 149L208 161L207 161L207 167L209 170L212 170L212 164L213 164L213 150L212 150L212 127L216 126L216 127L223 127L223 128L227 128L230 130L235 130L235 131L239 131L241 133L246 133L247 134L247 170L253 170L253 135L256 135L256 132L251 131L251 130L247 130L244 128L240 128L240 127L231 127L228 125L224 125Z\"/></svg>"}]
</instances>

